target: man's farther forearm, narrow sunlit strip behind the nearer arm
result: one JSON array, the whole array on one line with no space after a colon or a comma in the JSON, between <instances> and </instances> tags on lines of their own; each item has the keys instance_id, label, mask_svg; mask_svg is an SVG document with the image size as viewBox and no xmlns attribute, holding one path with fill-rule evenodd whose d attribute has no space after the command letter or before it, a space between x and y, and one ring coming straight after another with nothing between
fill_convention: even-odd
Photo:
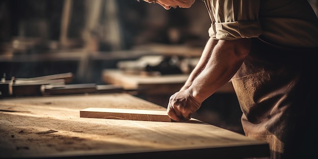
<instances>
[{"instance_id":1,"label":"man's farther forearm, narrow sunlit strip behind the nearer arm","mask_svg":"<svg viewBox=\"0 0 318 159\"><path fill-rule=\"evenodd\" d=\"M188 79L186 80L186 82L183 85L183 87L181 88L181 90L187 89L192 84L194 79L202 72L202 70L205 68L205 66L206 66L206 64L211 56L212 50L216 44L217 44L217 40L214 40L212 38L210 38L207 41L199 62L197 63L197 65L193 69L193 71L190 73Z\"/></svg>"}]
</instances>

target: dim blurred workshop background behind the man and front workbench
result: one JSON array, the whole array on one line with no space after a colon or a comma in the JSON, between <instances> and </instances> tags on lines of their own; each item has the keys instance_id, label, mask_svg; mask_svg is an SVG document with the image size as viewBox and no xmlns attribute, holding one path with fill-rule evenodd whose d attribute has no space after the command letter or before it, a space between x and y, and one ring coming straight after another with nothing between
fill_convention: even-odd
<instances>
[{"instance_id":1,"label":"dim blurred workshop background behind the man and front workbench","mask_svg":"<svg viewBox=\"0 0 318 159\"><path fill-rule=\"evenodd\" d=\"M309 2L317 13L317 1ZM73 93L89 93L85 88L91 84L120 86L118 79L117 83L116 79L107 80L116 76L106 75L114 70L121 71L120 78L169 76L177 80L174 75L188 75L195 66L208 39L209 27L202 1L196 1L189 9L165 10L160 5L135 0L1 0L2 85L13 79L68 73L72 80L66 84L79 89ZM168 83L170 79L162 80ZM158 86L145 91L147 85L142 87L144 91L124 86L122 90L166 107L175 91L172 85L179 81L171 82L171 89L162 93L153 93ZM164 87L162 82L159 87ZM208 98L194 117L243 133L235 92L231 87L225 89ZM1 90L2 98L48 96L5 91Z\"/></svg>"}]
</instances>

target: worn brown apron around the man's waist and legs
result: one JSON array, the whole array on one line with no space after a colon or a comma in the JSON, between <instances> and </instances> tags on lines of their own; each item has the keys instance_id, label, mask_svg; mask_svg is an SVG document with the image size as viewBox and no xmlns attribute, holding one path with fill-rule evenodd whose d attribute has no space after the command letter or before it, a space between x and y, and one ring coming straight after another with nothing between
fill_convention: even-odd
<instances>
[{"instance_id":1,"label":"worn brown apron around the man's waist and legs","mask_svg":"<svg viewBox=\"0 0 318 159\"><path fill-rule=\"evenodd\" d=\"M269 143L270 158L318 158L317 48L281 49L252 39L232 78L246 136Z\"/></svg>"}]
</instances>

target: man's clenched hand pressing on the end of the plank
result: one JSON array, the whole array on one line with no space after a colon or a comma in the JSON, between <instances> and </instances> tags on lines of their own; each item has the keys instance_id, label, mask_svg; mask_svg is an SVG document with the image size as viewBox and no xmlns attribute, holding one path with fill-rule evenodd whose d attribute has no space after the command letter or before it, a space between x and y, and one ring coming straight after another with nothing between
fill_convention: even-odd
<instances>
[{"instance_id":1,"label":"man's clenched hand pressing on the end of the plank","mask_svg":"<svg viewBox=\"0 0 318 159\"><path fill-rule=\"evenodd\" d=\"M201 104L187 89L180 90L170 97L167 112L174 121L188 121Z\"/></svg>"}]
</instances>

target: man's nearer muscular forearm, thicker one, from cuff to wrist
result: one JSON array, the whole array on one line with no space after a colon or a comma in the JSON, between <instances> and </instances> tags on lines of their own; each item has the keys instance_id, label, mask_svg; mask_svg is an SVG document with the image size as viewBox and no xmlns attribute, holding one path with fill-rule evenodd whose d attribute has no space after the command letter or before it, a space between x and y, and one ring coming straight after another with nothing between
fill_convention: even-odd
<instances>
[{"instance_id":1,"label":"man's nearer muscular forearm, thicker one, from cuff to wrist","mask_svg":"<svg viewBox=\"0 0 318 159\"><path fill-rule=\"evenodd\" d=\"M250 40L219 40L203 71L193 80L188 90L203 102L218 88L228 82L250 52Z\"/></svg>"}]
</instances>

